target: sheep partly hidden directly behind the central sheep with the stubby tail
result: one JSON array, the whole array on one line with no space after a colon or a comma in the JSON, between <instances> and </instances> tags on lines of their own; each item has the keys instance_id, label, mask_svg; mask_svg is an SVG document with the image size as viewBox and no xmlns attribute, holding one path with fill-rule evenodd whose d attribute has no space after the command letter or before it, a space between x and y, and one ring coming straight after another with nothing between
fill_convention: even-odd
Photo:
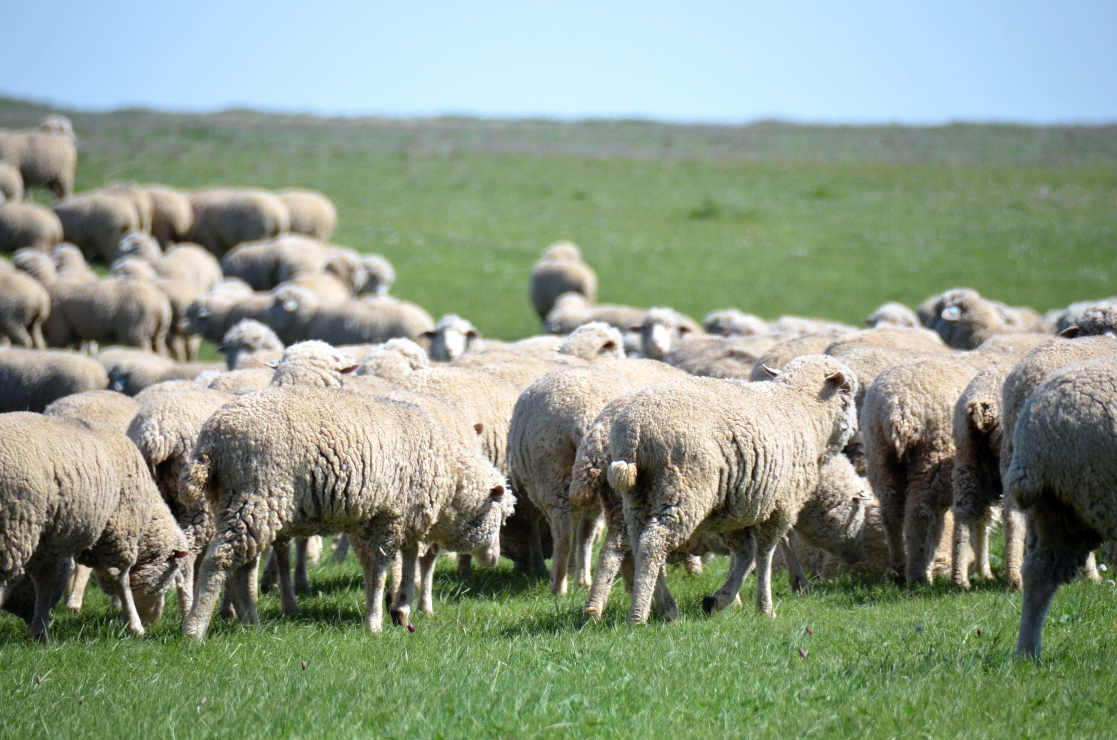
<instances>
[{"instance_id":1,"label":"sheep partly hidden directly behind the central sheep with the stubby tail","mask_svg":"<svg viewBox=\"0 0 1117 740\"><path fill-rule=\"evenodd\" d=\"M576 554L577 582L591 582L590 548L601 507L596 499L574 503L570 496L574 455L586 429L613 398L681 374L660 362L614 358L590 367L560 367L517 399L508 428L508 477L513 490L547 518L555 543L552 594L566 595L571 552ZM535 554L542 560L542 554Z\"/></svg>"}]
</instances>

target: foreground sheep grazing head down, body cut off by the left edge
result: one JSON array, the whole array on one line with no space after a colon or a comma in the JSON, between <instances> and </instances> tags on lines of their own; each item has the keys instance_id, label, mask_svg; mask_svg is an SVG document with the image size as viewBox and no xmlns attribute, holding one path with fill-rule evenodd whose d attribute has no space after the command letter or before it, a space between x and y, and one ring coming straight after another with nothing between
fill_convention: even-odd
<instances>
[{"instance_id":1,"label":"foreground sheep grazing head down, body cut off by the left edge","mask_svg":"<svg viewBox=\"0 0 1117 740\"><path fill-rule=\"evenodd\" d=\"M135 446L106 427L15 412L0 416L0 600L26 573L37 604L31 636L47 638L59 561L74 554L121 598L128 630L143 635L180 575L175 526Z\"/></svg>"}]
</instances>

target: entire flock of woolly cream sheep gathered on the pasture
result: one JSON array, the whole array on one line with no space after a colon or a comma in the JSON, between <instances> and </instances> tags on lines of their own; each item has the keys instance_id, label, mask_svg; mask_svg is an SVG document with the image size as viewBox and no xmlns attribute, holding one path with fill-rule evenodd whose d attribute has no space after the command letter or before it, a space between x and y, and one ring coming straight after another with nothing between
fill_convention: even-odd
<instances>
[{"instance_id":1,"label":"entire flock of woolly cream sheep gathered on the pasture","mask_svg":"<svg viewBox=\"0 0 1117 740\"><path fill-rule=\"evenodd\" d=\"M321 192L75 193L77 141L63 116L0 131L0 606L36 638L90 577L137 636L171 589L198 639L216 610L254 625L260 590L297 613L331 538L372 633L432 614L440 554L585 587L589 618L620 575L639 624L678 614L667 562L718 556L707 614L753 571L765 615L777 569L967 589L1001 524L1025 656L1061 584L1104 581L1117 298L698 322L599 303L558 241L524 307L542 333L497 341L394 297Z\"/></svg>"}]
</instances>

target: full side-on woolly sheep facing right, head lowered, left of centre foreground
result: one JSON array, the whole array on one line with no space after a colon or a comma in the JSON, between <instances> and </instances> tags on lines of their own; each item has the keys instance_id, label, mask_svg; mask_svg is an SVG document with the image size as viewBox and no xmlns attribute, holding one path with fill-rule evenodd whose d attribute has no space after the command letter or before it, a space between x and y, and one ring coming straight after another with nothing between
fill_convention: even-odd
<instances>
[{"instance_id":1,"label":"full side-on woolly sheep facing right, head lowered, left of centre foreground","mask_svg":"<svg viewBox=\"0 0 1117 740\"><path fill-rule=\"evenodd\" d=\"M324 368L338 385L344 361ZM514 496L476 449L455 444L413 404L336 387L286 387L279 382L284 372L280 363L273 387L233 399L210 417L180 476L183 500L206 497L218 519L185 635L204 636L230 575L237 613L255 624L251 581L259 553L275 542L287 592L284 556L293 535L349 535L365 572L364 626L372 633L382 628L384 573L397 551L405 554L410 573L403 582L412 589L420 541L496 562L499 528ZM338 445L344 457L323 457L323 449ZM393 616L407 620L402 609Z\"/></svg>"}]
</instances>

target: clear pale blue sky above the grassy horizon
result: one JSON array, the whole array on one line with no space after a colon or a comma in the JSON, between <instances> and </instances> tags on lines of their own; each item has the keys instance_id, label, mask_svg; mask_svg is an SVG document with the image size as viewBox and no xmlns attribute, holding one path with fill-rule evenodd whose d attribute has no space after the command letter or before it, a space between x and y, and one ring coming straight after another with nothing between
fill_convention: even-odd
<instances>
[{"instance_id":1,"label":"clear pale blue sky above the grassy horizon","mask_svg":"<svg viewBox=\"0 0 1117 740\"><path fill-rule=\"evenodd\" d=\"M0 93L85 108L1117 121L1117 0L0 2Z\"/></svg>"}]
</instances>

